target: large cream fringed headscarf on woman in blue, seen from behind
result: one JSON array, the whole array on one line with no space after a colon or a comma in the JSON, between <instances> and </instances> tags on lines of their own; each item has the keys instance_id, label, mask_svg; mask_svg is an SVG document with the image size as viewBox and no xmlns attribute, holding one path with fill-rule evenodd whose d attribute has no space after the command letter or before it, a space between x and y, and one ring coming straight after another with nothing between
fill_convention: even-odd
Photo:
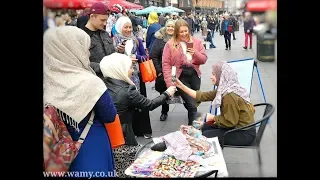
<instances>
[{"instance_id":1,"label":"large cream fringed headscarf on woman in blue, seen from behind","mask_svg":"<svg viewBox=\"0 0 320 180\"><path fill-rule=\"evenodd\" d=\"M107 90L90 67L90 42L89 35L74 26L50 28L43 37L44 103L68 115L63 120L77 130Z\"/></svg>"}]
</instances>

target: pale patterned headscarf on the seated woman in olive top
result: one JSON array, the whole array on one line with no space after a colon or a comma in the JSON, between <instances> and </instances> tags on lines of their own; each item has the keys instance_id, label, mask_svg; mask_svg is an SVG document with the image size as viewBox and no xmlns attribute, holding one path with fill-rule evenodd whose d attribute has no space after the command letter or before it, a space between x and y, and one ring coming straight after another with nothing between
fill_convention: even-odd
<instances>
[{"instance_id":1,"label":"pale patterned headscarf on the seated woman in olive top","mask_svg":"<svg viewBox=\"0 0 320 180\"><path fill-rule=\"evenodd\" d=\"M247 90L240 86L238 81L237 72L225 61L219 61L212 66L212 73L217 78L217 93L212 101L212 106L218 108L221 105L221 99L228 93L235 93L242 97L247 103L250 103L249 93Z\"/></svg>"}]
</instances>

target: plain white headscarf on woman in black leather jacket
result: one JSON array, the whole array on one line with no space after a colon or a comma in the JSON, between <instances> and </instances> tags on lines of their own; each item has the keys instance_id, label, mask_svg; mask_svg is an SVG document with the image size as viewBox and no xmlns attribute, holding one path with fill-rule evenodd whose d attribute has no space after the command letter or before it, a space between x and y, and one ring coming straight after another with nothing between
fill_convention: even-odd
<instances>
[{"instance_id":1,"label":"plain white headscarf on woman in black leather jacket","mask_svg":"<svg viewBox=\"0 0 320 180\"><path fill-rule=\"evenodd\" d=\"M128 77L128 71L132 66L129 56L120 53L112 53L105 56L100 62L100 69L104 77L118 79L134 85Z\"/></svg>"}]
</instances>

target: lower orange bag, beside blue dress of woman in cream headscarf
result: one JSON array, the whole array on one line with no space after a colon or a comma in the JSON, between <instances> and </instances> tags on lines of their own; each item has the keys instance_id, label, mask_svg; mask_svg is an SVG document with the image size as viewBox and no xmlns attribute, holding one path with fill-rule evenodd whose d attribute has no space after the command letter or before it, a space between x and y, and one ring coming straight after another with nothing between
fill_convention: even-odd
<instances>
[{"instance_id":1,"label":"lower orange bag, beside blue dress of woman in cream headscarf","mask_svg":"<svg viewBox=\"0 0 320 180\"><path fill-rule=\"evenodd\" d=\"M118 148L125 144L118 114L116 115L115 120L112 123L106 123L104 125L107 129L112 149Z\"/></svg>"}]
</instances>

